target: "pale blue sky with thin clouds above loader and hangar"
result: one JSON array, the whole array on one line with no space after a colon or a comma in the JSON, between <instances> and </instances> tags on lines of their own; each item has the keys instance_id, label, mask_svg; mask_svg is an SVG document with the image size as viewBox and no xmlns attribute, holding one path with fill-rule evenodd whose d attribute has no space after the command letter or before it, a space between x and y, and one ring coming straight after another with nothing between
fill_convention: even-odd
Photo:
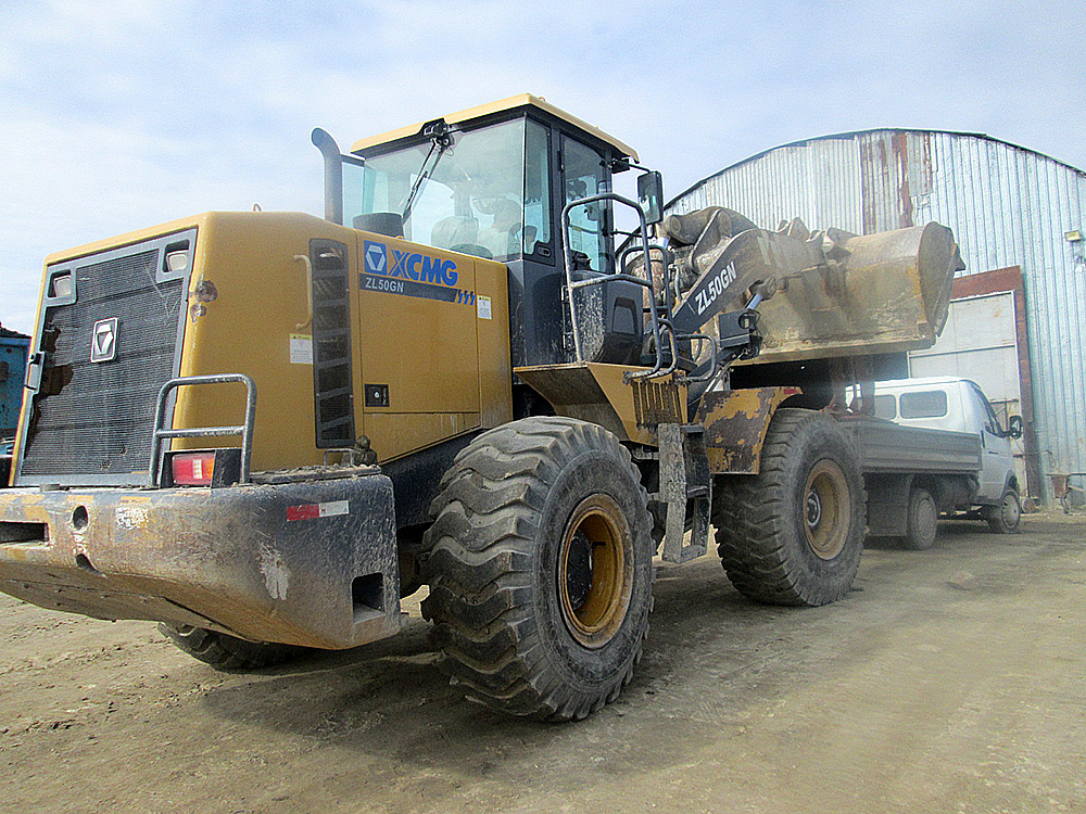
<instances>
[{"instance_id":1,"label":"pale blue sky with thin clouds above loader and hangar","mask_svg":"<svg viewBox=\"0 0 1086 814\"><path fill-rule=\"evenodd\" d=\"M1083 20L1063 0L0 0L0 322L31 331L51 252L210 209L323 214L314 127L346 149L522 92L633 145L669 196L879 127L1086 168Z\"/></svg>"}]
</instances>

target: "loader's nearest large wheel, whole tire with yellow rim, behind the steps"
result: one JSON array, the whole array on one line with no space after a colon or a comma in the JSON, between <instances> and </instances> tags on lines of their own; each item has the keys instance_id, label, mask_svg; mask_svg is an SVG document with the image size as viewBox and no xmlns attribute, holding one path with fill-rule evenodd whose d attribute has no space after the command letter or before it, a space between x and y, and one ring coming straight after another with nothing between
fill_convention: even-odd
<instances>
[{"instance_id":1,"label":"loader's nearest large wheel, whole tire with yellow rim, behind the steps","mask_svg":"<svg viewBox=\"0 0 1086 814\"><path fill-rule=\"evenodd\" d=\"M422 612L454 684L552 721L614 701L648 631L647 501L629 451L584 421L522 419L466 447L424 542Z\"/></svg>"}]
</instances>

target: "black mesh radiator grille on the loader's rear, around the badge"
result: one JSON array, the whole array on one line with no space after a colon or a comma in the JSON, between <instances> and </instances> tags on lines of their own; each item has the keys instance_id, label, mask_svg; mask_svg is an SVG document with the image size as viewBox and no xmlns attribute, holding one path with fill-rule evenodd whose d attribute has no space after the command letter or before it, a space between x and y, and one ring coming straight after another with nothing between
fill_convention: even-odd
<instances>
[{"instance_id":1,"label":"black mesh radiator grille on the loader's rear, around the badge","mask_svg":"<svg viewBox=\"0 0 1086 814\"><path fill-rule=\"evenodd\" d=\"M184 278L162 279L166 240L76 263L76 301L47 307L42 349L51 334L55 344L21 478L146 480L139 474L149 462L155 397L174 376L186 298ZM111 318L117 319L116 356L92 363L94 323Z\"/></svg>"}]
</instances>

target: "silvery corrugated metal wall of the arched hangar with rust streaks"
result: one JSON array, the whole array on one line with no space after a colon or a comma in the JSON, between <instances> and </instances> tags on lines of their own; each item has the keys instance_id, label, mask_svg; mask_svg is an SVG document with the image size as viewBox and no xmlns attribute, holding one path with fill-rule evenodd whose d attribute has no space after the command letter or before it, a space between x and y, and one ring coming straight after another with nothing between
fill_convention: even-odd
<instances>
[{"instance_id":1,"label":"silvery corrugated metal wall of the arched hangar with rust streaks","mask_svg":"<svg viewBox=\"0 0 1086 814\"><path fill-rule=\"evenodd\" d=\"M769 150L681 194L670 212L720 205L759 226L869 233L937 220L963 274L1021 266L1040 470L1086 472L1086 173L975 133L868 130ZM1046 495L1047 496L1047 495Z\"/></svg>"}]
</instances>

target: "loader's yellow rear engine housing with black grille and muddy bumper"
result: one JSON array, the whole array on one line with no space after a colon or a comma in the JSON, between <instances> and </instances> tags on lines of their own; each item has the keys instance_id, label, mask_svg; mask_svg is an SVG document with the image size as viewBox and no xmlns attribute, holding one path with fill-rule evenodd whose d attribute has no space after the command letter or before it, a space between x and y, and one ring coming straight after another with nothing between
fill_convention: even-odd
<instances>
[{"instance_id":1,"label":"loader's yellow rear engine housing with black grille and muddy bumper","mask_svg":"<svg viewBox=\"0 0 1086 814\"><path fill-rule=\"evenodd\" d=\"M427 247L456 285L419 284L446 298L387 298L358 282L364 240L308 215L207 213L51 257L20 488L0 493L0 587L310 647L399 629L376 449L383 463L512 418L506 269ZM492 319L456 302L466 291ZM420 322L442 334L424 354ZM394 400L354 397L363 355ZM193 435L156 437L174 428ZM224 428L236 434L205 434Z\"/></svg>"}]
</instances>

